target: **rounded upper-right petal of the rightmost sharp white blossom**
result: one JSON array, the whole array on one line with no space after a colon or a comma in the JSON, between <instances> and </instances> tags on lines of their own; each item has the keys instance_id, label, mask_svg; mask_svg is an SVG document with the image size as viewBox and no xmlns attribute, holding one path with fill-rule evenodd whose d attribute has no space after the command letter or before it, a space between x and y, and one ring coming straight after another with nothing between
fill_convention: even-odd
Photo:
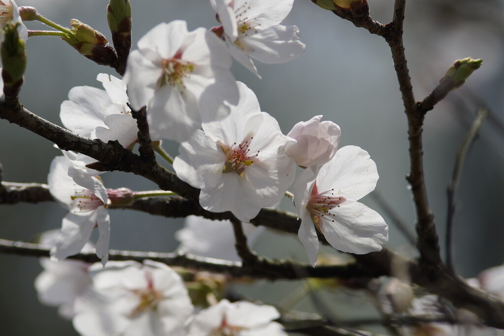
<instances>
[{"instance_id":1,"label":"rounded upper-right petal of the rightmost sharp white blossom","mask_svg":"<svg viewBox=\"0 0 504 336\"><path fill-rule=\"evenodd\" d=\"M334 188L335 196L358 200L374 190L377 180L376 164L369 154L360 147L345 146L320 168L317 185L319 192Z\"/></svg>"}]
</instances>

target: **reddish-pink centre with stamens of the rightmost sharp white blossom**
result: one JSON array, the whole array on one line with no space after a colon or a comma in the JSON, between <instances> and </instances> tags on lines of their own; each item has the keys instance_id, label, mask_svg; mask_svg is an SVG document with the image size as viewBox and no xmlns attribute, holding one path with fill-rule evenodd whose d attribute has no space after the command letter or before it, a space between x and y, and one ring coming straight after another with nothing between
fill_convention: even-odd
<instances>
[{"instance_id":1,"label":"reddish-pink centre with stamens of the rightmost sharp white blossom","mask_svg":"<svg viewBox=\"0 0 504 336\"><path fill-rule=\"evenodd\" d=\"M334 222L334 219L331 218L331 216L335 216L333 209L339 208L344 201L346 201L345 197L334 195L334 188L319 193L317 181L315 181L306 209L310 212L313 224L319 231L321 231L320 220L326 219Z\"/></svg>"}]
</instances>

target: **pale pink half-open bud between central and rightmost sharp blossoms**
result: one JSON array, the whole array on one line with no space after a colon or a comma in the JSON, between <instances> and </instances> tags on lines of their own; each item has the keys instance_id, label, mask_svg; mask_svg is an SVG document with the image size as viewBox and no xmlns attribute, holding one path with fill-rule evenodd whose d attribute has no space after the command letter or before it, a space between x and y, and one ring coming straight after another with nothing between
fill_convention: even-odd
<instances>
[{"instance_id":1,"label":"pale pink half-open bud between central and rightmost sharp blossoms","mask_svg":"<svg viewBox=\"0 0 504 336\"><path fill-rule=\"evenodd\" d=\"M340 142L340 126L332 121L320 121L317 115L292 127L287 135L297 141L285 146L285 153L301 168L321 166L332 159Z\"/></svg>"}]
</instances>

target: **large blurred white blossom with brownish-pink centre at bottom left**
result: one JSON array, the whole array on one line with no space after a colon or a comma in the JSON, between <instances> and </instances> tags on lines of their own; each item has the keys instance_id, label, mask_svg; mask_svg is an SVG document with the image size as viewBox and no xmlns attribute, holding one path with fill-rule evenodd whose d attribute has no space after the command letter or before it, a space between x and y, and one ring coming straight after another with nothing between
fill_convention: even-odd
<instances>
[{"instance_id":1,"label":"large blurred white blossom with brownish-pink centre at bottom left","mask_svg":"<svg viewBox=\"0 0 504 336\"><path fill-rule=\"evenodd\" d=\"M84 336L185 335L193 305L182 279L165 264L109 261L89 269L93 286L77 298L74 327Z\"/></svg>"}]
</instances>

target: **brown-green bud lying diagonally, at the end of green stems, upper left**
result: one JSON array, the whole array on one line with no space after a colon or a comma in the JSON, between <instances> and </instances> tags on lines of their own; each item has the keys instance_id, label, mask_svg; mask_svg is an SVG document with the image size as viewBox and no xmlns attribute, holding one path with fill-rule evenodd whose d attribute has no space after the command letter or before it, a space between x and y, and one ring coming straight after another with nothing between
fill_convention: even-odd
<instances>
[{"instance_id":1,"label":"brown-green bud lying diagonally, at the end of green stems, upper left","mask_svg":"<svg viewBox=\"0 0 504 336\"><path fill-rule=\"evenodd\" d=\"M115 63L117 54L102 33L76 19L72 19L70 24L72 35L62 36L62 40L77 49L81 55L98 64Z\"/></svg>"}]
</instances>

